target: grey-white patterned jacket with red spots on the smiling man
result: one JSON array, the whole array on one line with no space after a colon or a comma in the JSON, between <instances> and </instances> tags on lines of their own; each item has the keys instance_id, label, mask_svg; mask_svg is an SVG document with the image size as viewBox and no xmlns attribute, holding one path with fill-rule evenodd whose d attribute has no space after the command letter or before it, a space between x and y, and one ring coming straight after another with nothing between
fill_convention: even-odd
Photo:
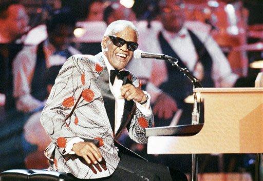
<instances>
[{"instance_id":1,"label":"grey-white patterned jacket with red spots on the smiling man","mask_svg":"<svg viewBox=\"0 0 263 181\"><path fill-rule=\"evenodd\" d=\"M137 143L147 143L145 128L154 126L154 118L143 115L133 101L132 106L125 103L117 134L112 131L103 99L110 91L108 77L102 52L95 56L73 55L63 65L41 115L41 123L52 140L45 150L49 170L85 179L106 177L120 161L114 143L122 129L126 127ZM139 87L139 80L132 73L129 80ZM97 142L102 162L87 164L82 157L67 154L67 142L76 137Z\"/></svg>"}]
</instances>

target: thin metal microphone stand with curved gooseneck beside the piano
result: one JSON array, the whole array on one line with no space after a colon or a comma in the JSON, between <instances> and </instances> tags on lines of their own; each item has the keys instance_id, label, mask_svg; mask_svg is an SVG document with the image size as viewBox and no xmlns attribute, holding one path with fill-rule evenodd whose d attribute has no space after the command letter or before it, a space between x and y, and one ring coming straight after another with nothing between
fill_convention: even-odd
<instances>
[{"instance_id":1,"label":"thin metal microphone stand with curved gooseneck beside the piano","mask_svg":"<svg viewBox=\"0 0 263 181\"><path fill-rule=\"evenodd\" d=\"M178 65L178 59L177 58L171 57L171 56L165 56L165 55L161 55L161 58L167 62L170 62L173 67L179 69L180 72L182 72L185 76L187 76L187 78L189 78L193 84L193 90L195 88L198 88L198 87L201 88L202 87L198 78L196 78L194 75L192 75L189 72L189 70L187 70L187 68L182 68ZM194 109L192 112L192 125L197 125L197 124L199 124L199 112L197 109L197 96L196 96L196 92L194 92ZM191 175L192 181L198 180L197 166L198 166L197 155L192 154L192 175Z\"/></svg>"}]
</instances>

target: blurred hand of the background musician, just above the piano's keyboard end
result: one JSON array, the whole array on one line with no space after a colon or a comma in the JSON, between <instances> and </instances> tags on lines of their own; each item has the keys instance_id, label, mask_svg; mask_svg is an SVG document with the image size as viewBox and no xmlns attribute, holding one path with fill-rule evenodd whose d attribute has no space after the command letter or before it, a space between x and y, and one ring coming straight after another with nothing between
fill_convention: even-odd
<instances>
[{"instance_id":1,"label":"blurred hand of the background musician, just above the piano's keyboard end","mask_svg":"<svg viewBox=\"0 0 263 181\"><path fill-rule=\"evenodd\" d=\"M153 108L154 115L159 118L170 119L175 111L177 111L175 100L168 94L160 94Z\"/></svg>"}]
</instances>

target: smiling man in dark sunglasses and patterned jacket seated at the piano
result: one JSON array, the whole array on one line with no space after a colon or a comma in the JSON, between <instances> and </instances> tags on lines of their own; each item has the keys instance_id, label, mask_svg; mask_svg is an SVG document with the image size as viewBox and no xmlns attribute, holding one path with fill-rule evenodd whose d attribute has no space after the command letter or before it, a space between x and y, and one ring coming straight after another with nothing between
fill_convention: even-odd
<instances>
[{"instance_id":1,"label":"smiling man in dark sunglasses and patterned jacket seated at the piano","mask_svg":"<svg viewBox=\"0 0 263 181\"><path fill-rule=\"evenodd\" d=\"M132 139L146 144L145 128L154 126L151 97L124 69L138 47L137 37L131 22L113 22L102 52L73 55L63 65L41 116L52 139L45 151L49 170L80 179L172 180L167 167L127 155L116 142L127 128ZM172 174L174 180L186 180L180 172Z\"/></svg>"}]
</instances>

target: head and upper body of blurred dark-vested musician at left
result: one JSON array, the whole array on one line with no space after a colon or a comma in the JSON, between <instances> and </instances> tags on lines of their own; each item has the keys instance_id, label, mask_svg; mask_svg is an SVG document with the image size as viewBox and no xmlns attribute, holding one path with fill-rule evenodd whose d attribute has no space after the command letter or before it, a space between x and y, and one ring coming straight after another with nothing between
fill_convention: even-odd
<instances>
[{"instance_id":1,"label":"head and upper body of blurred dark-vested musician at left","mask_svg":"<svg viewBox=\"0 0 263 181\"><path fill-rule=\"evenodd\" d=\"M25 47L13 63L14 97L16 108L24 113L43 109L47 90L44 72L53 65L62 65L66 59L80 52L70 46L76 19L67 10L59 10L47 21L48 38L39 45Z\"/></svg>"}]
</instances>

